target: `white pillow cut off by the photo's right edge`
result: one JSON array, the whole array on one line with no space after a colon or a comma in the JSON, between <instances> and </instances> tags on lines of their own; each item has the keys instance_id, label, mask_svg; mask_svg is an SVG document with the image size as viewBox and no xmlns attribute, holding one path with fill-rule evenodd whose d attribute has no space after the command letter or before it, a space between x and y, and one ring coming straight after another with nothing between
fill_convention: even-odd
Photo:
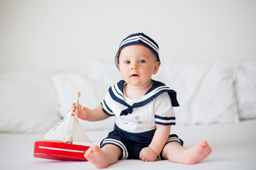
<instances>
[{"instance_id":1,"label":"white pillow cut off by the photo's right edge","mask_svg":"<svg viewBox=\"0 0 256 170\"><path fill-rule=\"evenodd\" d=\"M256 118L256 62L240 64L236 81L240 119Z\"/></svg>"}]
</instances>

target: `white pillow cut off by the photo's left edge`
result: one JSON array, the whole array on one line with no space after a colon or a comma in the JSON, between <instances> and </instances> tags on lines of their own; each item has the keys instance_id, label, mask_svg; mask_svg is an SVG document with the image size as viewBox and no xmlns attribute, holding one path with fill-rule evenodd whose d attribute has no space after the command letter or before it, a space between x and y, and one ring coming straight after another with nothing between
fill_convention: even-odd
<instances>
[{"instance_id":1,"label":"white pillow cut off by the photo's left edge","mask_svg":"<svg viewBox=\"0 0 256 170\"><path fill-rule=\"evenodd\" d=\"M60 120L46 74L1 74L0 108L0 132L47 132Z\"/></svg>"}]
</instances>

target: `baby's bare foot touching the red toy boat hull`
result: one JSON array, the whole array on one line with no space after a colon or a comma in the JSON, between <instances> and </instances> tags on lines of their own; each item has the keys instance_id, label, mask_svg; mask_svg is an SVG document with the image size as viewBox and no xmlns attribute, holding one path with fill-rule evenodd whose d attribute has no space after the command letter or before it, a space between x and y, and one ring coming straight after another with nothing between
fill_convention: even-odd
<instances>
[{"instance_id":1,"label":"baby's bare foot touching the red toy boat hull","mask_svg":"<svg viewBox=\"0 0 256 170\"><path fill-rule=\"evenodd\" d=\"M85 152L85 158L98 169L107 168L108 166L107 157L98 146L93 146L87 149Z\"/></svg>"}]
</instances>

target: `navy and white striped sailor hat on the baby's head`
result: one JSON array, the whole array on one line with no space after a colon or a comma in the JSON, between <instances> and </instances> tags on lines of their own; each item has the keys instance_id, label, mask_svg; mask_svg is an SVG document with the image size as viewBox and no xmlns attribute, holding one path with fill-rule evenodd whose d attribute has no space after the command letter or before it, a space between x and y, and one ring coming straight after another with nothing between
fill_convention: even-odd
<instances>
[{"instance_id":1,"label":"navy and white striped sailor hat on the baby's head","mask_svg":"<svg viewBox=\"0 0 256 170\"><path fill-rule=\"evenodd\" d=\"M135 44L142 44L142 45L148 47L156 55L157 61L160 62L159 46L157 45L157 43L153 39L149 38L149 36L145 35L144 33L134 33L132 35L129 35L127 38L124 38L124 40L122 40L122 42L120 43L119 49L117 51L117 55L114 58L114 62L116 64L116 66L118 63L118 61L117 61L118 55L119 55L119 52L122 50L122 48L126 47L128 45L135 45Z\"/></svg>"}]
</instances>

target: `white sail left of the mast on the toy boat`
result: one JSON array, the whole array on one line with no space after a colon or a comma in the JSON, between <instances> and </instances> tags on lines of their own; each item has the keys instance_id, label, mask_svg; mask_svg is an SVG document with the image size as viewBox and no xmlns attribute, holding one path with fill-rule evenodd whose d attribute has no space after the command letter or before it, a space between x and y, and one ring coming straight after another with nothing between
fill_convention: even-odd
<instances>
[{"instance_id":1,"label":"white sail left of the mast on the toy boat","mask_svg":"<svg viewBox=\"0 0 256 170\"><path fill-rule=\"evenodd\" d=\"M60 122L55 125L49 132L47 132L45 135L41 136L39 140L59 140L62 142L68 141L68 129L70 126L70 119L72 110L66 115L63 120L60 120Z\"/></svg>"}]
</instances>

